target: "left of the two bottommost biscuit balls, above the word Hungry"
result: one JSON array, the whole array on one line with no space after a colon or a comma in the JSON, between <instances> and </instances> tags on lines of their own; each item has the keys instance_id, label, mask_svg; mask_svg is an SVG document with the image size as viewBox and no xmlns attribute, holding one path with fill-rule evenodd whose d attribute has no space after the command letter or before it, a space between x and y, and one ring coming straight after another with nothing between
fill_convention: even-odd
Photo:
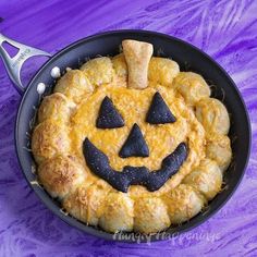
<instances>
[{"instance_id":1,"label":"left of the two bottommost biscuit balls, above the word Hungry","mask_svg":"<svg viewBox=\"0 0 257 257\"><path fill-rule=\"evenodd\" d=\"M133 200L121 192L110 193L105 201L99 225L109 232L133 230Z\"/></svg>"}]
</instances>

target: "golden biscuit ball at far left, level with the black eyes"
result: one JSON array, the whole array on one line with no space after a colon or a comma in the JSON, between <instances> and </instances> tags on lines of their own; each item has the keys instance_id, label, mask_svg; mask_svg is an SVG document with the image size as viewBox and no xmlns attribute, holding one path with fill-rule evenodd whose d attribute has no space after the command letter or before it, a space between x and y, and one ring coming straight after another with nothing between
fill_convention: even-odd
<instances>
[{"instance_id":1,"label":"golden biscuit ball at far left, level with the black eyes","mask_svg":"<svg viewBox=\"0 0 257 257\"><path fill-rule=\"evenodd\" d=\"M75 103L61 93L46 96L38 109L38 122L40 123L47 119L68 122L74 108Z\"/></svg>"}]
</instances>

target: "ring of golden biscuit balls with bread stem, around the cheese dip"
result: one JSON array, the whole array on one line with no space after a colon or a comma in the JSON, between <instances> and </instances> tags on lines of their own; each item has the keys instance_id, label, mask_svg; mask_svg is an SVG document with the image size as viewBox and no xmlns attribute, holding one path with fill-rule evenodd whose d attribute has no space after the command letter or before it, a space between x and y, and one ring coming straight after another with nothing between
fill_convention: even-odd
<instances>
[{"instance_id":1,"label":"ring of golden biscuit balls with bread stem, around the cheese dip","mask_svg":"<svg viewBox=\"0 0 257 257\"><path fill-rule=\"evenodd\" d=\"M152 46L148 42L125 40L122 45L124 53L89 60L81 70L68 71L58 81L54 94L45 97L39 108L32 150L39 166L39 182L71 216L111 233L134 230L149 234L188 221L221 191L222 171L232 155L225 136L230 120L225 107L209 98L210 88L199 74L180 72L176 62L151 57ZM134 194L132 188L124 194L87 172L84 159L70 155L73 147L69 121L73 108L98 86L109 86L105 84L133 89L151 84L157 89L166 86L181 99L185 111L180 109L180 113L193 127L187 137L187 166L197 166L189 172L185 163L182 174L178 174L181 184L168 193L163 189ZM208 159L201 160L206 156Z\"/></svg>"}]
</instances>

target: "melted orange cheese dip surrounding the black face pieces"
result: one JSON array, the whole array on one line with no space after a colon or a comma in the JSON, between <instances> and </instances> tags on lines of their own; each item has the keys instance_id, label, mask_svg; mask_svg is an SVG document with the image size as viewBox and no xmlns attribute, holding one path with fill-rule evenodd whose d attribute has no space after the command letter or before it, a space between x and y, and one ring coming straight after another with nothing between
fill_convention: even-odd
<instances>
[{"instance_id":1,"label":"melted orange cheese dip surrounding the black face pieces","mask_svg":"<svg viewBox=\"0 0 257 257\"><path fill-rule=\"evenodd\" d=\"M171 112L175 115L174 123L152 125L145 121L152 96L159 91ZM97 128L96 120L102 99L108 96L122 114L125 125L119 128ZM122 96L122 97L121 97ZM119 151L126 140L134 123L142 130L144 138L149 147L149 157L120 158ZM189 156L176 175L171 178L167 186L160 188L161 193L176 186L181 180L197 166L205 157L205 131L197 121L193 110L186 106L183 97L172 88L159 84L151 84L144 90L118 85L115 82L102 85L95 90L85 101L81 102L77 111L71 118L71 151L84 160L82 145L88 137L93 144L105 152L113 169L121 171L124 166L145 166L149 170L160 168L163 158L174 151L178 145L185 142L189 146ZM133 195L147 192L143 186L131 186Z\"/></svg>"}]
</instances>

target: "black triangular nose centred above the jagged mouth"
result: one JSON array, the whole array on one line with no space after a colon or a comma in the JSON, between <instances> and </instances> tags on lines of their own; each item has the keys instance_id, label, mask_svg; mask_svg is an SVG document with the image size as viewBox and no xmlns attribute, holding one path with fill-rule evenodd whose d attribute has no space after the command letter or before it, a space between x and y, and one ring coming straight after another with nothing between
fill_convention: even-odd
<instances>
[{"instance_id":1,"label":"black triangular nose centred above the jagged mouth","mask_svg":"<svg viewBox=\"0 0 257 257\"><path fill-rule=\"evenodd\" d=\"M142 134L140 127L135 123L122 146L119 156L127 157L148 157L149 149Z\"/></svg>"}]
</instances>

